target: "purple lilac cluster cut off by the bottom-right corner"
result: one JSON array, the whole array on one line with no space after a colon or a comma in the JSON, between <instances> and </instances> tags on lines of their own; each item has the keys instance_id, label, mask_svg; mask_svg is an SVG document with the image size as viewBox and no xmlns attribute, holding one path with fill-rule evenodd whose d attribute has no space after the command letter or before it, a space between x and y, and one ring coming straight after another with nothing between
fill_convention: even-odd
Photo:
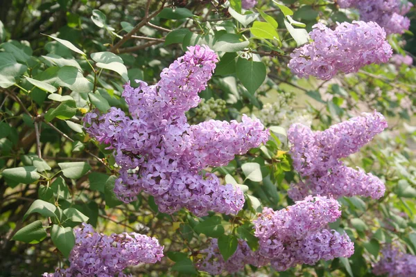
<instances>
[{"instance_id":1,"label":"purple lilac cluster cut off by the bottom-right corner","mask_svg":"<svg viewBox=\"0 0 416 277\"><path fill-rule=\"evenodd\" d=\"M416 276L416 256L402 253L389 245L381 251L382 258L373 266L376 276Z\"/></svg>"}]
</instances>

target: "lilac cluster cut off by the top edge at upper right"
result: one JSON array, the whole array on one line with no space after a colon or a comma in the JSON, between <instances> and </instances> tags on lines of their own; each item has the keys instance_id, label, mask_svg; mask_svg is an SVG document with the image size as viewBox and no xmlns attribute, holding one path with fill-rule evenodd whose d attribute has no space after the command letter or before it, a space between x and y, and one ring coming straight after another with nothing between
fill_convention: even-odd
<instances>
[{"instance_id":1,"label":"lilac cluster cut off by the top edge at upper right","mask_svg":"<svg viewBox=\"0 0 416 277\"><path fill-rule=\"evenodd\" d=\"M404 4L401 0L338 0L338 5L340 8L357 8L360 20L376 22L388 35L408 30L410 19L404 15L413 7L412 3Z\"/></svg>"}]
</instances>

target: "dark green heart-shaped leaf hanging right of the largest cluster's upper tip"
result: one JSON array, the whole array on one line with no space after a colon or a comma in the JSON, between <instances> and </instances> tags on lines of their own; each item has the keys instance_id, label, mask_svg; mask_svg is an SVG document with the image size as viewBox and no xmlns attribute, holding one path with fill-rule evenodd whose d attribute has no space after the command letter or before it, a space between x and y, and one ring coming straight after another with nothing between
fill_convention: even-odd
<instances>
[{"instance_id":1,"label":"dark green heart-shaped leaf hanging right of the largest cluster's upper tip","mask_svg":"<svg viewBox=\"0 0 416 277\"><path fill-rule=\"evenodd\" d=\"M236 64L236 75L245 89L253 94L266 80L266 66L263 62L254 62L239 57Z\"/></svg>"}]
</instances>

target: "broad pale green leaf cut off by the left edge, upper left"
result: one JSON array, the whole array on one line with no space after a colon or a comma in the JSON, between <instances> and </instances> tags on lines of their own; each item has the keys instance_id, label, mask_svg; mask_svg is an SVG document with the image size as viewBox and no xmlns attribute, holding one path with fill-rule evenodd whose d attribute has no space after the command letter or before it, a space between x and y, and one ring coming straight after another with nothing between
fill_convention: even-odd
<instances>
[{"instance_id":1,"label":"broad pale green leaf cut off by the left edge, upper left","mask_svg":"<svg viewBox=\"0 0 416 277\"><path fill-rule=\"evenodd\" d=\"M0 87L8 88L15 84L15 78L25 73L27 66L19 64L10 53L0 53Z\"/></svg>"}]
</instances>

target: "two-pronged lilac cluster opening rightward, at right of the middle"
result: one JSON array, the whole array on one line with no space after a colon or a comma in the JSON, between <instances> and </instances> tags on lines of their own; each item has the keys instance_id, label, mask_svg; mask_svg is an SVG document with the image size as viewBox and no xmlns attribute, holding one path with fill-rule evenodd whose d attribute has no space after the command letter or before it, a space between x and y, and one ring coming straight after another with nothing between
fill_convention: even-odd
<instances>
[{"instance_id":1,"label":"two-pronged lilac cluster opening rightward, at right of the middle","mask_svg":"<svg viewBox=\"0 0 416 277\"><path fill-rule=\"evenodd\" d=\"M358 152L376 134L387 127L379 112L332 125L324 131L312 132L309 127L294 124L288 130L293 167L306 181L291 184L288 195L300 200L309 194L340 196L362 195L378 199L385 193L383 182L360 168L354 170L340 158Z\"/></svg>"}]
</instances>

